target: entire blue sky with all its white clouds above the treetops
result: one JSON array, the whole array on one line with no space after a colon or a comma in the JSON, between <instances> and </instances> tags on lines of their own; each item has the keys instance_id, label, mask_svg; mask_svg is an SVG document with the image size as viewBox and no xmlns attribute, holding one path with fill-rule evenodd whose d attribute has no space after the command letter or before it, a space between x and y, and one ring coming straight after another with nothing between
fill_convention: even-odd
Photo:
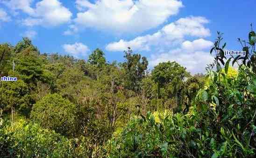
<instances>
[{"instance_id":1,"label":"entire blue sky with all its white clouds above the treetops","mask_svg":"<svg viewBox=\"0 0 256 158\"><path fill-rule=\"evenodd\" d=\"M80 59L100 48L110 62L123 61L130 46L149 68L175 60L204 72L217 31L227 49L241 49L237 38L247 40L255 6L255 0L0 0L0 43L29 37L41 53Z\"/></svg>"}]
</instances>

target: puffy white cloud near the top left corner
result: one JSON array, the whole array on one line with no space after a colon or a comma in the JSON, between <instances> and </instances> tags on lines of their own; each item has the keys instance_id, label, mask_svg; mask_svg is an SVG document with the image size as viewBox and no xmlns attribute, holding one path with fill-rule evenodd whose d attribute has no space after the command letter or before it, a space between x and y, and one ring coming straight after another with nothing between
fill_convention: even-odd
<instances>
[{"instance_id":1,"label":"puffy white cloud near the top left corner","mask_svg":"<svg viewBox=\"0 0 256 158\"><path fill-rule=\"evenodd\" d=\"M32 8L33 0L4 0L12 10L21 10L29 15L28 18L21 20L26 26L58 26L71 20L72 13L64 7L59 0L41 0Z\"/></svg>"}]
</instances>

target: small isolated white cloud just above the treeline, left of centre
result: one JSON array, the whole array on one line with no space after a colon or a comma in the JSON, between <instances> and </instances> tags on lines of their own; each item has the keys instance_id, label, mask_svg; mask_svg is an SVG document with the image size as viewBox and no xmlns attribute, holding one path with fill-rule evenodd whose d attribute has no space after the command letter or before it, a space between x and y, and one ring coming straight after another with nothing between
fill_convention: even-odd
<instances>
[{"instance_id":1,"label":"small isolated white cloud just above the treeline, left of centre","mask_svg":"<svg viewBox=\"0 0 256 158\"><path fill-rule=\"evenodd\" d=\"M74 57L84 57L90 51L88 46L82 43L64 44L63 49L66 53L73 55Z\"/></svg>"}]
</instances>

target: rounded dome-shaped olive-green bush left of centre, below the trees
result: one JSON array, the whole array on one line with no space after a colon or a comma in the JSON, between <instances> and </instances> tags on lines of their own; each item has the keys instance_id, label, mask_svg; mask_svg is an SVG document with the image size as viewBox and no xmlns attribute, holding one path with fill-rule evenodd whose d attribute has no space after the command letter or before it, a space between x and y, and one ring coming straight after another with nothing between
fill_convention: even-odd
<instances>
[{"instance_id":1,"label":"rounded dome-shaped olive-green bush left of centre, below the trees","mask_svg":"<svg viewBox=\"0 0 256 158\"><path fill-rule=\"evenodd\" d=\"M59 94L49 94L32 108L30 117L42 127L65 136L75 133L75 105Z\"/></svg>"}]
</instances>

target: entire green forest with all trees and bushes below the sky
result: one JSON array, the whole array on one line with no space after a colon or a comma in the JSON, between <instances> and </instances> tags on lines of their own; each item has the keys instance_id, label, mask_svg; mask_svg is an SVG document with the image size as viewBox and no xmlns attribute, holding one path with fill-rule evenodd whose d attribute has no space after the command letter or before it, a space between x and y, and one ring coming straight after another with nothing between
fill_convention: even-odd
<instances>
[{"instance_id":1,"label":"entire green forest with all trees and bushes below the sky","mask_svg":"<svg viewBox=\"0 0 256 158\"><path fill-rule=\"evenodd\" d=\"M234 39L235 40L235 39ZM149 62L40 53L0 44L0 158L255 158L256 33L225 56L218 32L205 74Z\"/></svg>"}]
</instances>

